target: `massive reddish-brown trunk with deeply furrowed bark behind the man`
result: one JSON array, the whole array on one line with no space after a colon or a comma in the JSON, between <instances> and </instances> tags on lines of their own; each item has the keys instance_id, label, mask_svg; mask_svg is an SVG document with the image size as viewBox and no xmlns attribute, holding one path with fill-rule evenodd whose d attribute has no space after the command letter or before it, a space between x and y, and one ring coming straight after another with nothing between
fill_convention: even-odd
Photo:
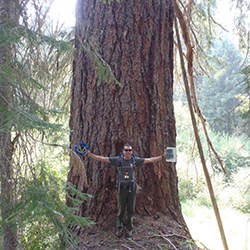
<instances>
[{"instance_id":1,"label":"massive reddish-brown trunk with deeply furrowed bark behind the man","mask_svg":"<svg viewBox=\"0 0 250 250\"><path fill-rule=\"evenodd\" d=\"M138 156L162 154L166 146L176 143L172 1L102 2L77 2L71 147L85 141L93 153L115 156L129 142ZM101 79L103 71L95 67L100 57L120 85ZM113 223L115 170L92 159L82 165L74 155L70 167L68 181L94 196L82 206L82 216L90 216L101 227ZM137 180L142 187L137 214L164 214L169 225L178 223L183 234L189 235L180 208L175 164L146 165L138 170Z\"/></svg>"}]
</instances>

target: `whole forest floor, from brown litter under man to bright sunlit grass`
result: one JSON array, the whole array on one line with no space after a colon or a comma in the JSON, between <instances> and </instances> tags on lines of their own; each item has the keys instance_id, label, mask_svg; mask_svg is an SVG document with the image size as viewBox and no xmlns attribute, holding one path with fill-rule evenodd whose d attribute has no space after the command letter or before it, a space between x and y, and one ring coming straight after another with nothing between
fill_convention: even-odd
<instances>
[{"instance_id":1,"label":"whole forest floor, from brown litter under man to bright sunlit grass","mask_svg":"<svg viewBox=\"0 0 250 250\"><path fill-rule=\"evenodd\" d=\"M115 235L115 222L106 230L92 227L83 232L80 250L222 250L222 242L212 208L187 202L183 214L194 241L186 240L179 224L163 215L136 217L131 239ZM232 208L222 208L221 216L229 249L250 250L250 218ZM115 216L114 216L115 218Z\"/></svg>"}]
</instances>

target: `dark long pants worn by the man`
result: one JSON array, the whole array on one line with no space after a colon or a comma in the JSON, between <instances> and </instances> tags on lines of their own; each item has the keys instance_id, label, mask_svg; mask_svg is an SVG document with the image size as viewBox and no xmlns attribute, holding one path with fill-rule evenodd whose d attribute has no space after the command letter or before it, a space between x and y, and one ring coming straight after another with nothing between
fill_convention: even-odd
<instances>
[{"instance_id":1,"label":"dark long pants worn by the man","mask_svg":"<svg viewBox=\"0 0 250 250\"><path fill-rule=\"evenodd\" d=\"M117 194L118 213L117 227L122 227L124 224L124 214L127 208L127 229L133 229L133 216L135 211L136 190L135 183L130 187L121 187Z\"/></svg>"}]
</instances>

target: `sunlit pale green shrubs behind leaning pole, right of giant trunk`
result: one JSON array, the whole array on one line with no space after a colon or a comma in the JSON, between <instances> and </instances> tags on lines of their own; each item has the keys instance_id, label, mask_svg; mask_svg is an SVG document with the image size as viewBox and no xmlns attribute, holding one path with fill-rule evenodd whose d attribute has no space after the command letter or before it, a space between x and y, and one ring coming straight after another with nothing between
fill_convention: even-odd
<instances>
[{"instance_id":1,"label":"sunlit pale green shrubs behind leaning pole, right of giant trunk","mask_svg":"<svg viewBox=\"0 0 250 250\"><path fill-rule=\"evenodd\" d=\"M194 201L198 205L211 207L210 196L194 142L193 128L188 110L175 102L177 122L179 197L184 203ZM227 206L249 211L249 166L250 142L247 136L229 136L209 131L214 148L221 157L227 175L221 171L218 162L204 147L216 197ZM204 138L203 145L206 145ZM190 158L192 160L190 160ZM221 178L222 176L222 178Z\"/></svg>"}]
</instances>

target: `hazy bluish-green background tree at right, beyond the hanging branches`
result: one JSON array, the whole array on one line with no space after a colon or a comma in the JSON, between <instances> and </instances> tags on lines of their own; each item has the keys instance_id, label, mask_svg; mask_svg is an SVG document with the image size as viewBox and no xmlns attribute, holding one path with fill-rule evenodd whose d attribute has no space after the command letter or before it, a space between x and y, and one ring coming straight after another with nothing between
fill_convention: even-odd
<instances>
[{"instance_id":1,"label":"hazy bluish-green background tree at right, beyond the hanging branches","mask_svg":"<svg viewBox=\"0 0 250 250\"><path fill-rule=\"evenodd\" d=\"M240 73L242 57L228 41L216 42L212 48L211 56L216 60L210 61L211 75L200 78L197 92L200 108L215 132L248 134L240 112L245 91Z\"/></svg>"}]
</instances>

